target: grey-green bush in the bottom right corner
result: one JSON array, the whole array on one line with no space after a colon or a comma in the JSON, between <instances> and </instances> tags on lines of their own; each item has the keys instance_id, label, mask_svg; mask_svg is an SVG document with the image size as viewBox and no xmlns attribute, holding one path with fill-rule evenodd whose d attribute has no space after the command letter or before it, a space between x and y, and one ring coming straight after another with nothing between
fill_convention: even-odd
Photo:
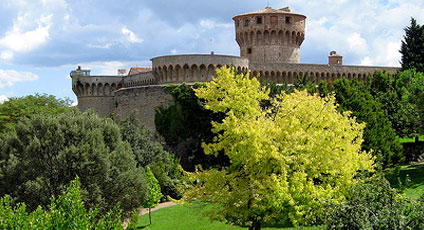
<instances>
[{"instance_id":1,"label":"grey-green bush in the bottom right corner","mask_svg":"<svg viewBox=\"0 0 424 230\"><path fill-rule=\"evenodd\" d=\"M423 229L424 202L408 199L381 176L354 185L341 204L323 206L328 229Z\"/></svg>"}]
</instances>

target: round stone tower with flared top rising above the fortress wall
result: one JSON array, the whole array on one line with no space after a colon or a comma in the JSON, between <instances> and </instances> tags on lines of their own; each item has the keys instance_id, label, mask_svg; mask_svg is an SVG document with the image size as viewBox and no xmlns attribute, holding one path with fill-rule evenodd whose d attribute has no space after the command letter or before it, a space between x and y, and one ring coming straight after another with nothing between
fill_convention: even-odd
<instances>
[{"instance_id":1,"label":"round stone tower with flared top rising above the fortress wall","mask_svg":"<svg viewBox=\"0 0 424 230\"><path fill-rule=\"evenodd\" d=\"M306 16L266 7L233 17L240 56L250 63L299 63Z\"/></svg>"}]
</instances>

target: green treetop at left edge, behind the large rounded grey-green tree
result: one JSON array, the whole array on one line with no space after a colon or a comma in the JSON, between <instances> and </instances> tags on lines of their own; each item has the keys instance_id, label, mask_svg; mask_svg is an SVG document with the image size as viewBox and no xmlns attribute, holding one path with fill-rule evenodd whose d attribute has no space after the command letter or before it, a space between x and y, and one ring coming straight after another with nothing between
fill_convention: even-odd
<instances>
[{"instance_id":1,"label":"green treetop at left edge, behind the large rounded grey-green tree","mask_svg":"<svg viewBox=\"0 0 424 230\"><path fill-rule=\"evenodd\" d=\"M6 129L13 129L16 123L34 114L57 115L68 109L69 99L57 99L47 94L35 94L25 97L10 98L0 104L0 133Z\"/></svg>"}]
</instances>

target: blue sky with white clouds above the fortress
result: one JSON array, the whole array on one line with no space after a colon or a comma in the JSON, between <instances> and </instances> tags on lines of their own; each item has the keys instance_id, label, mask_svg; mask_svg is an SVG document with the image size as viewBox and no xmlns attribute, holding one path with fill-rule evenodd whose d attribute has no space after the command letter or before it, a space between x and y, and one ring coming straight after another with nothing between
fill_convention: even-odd
<instances>
[{"instance_id":1,"label":"blue sky with white clouds above the fortress","mask_svg":"<svg viewBox=\"0 0 424 230\"><path fill-rule=\"evenodd\" d=\"M51 94L76 101L69 72L151 67L170 54L239 55L232 17L289 6L307 16L301 63L399 66L423 0L0 0L0 103Z\"/></svg>"}]
</instances>

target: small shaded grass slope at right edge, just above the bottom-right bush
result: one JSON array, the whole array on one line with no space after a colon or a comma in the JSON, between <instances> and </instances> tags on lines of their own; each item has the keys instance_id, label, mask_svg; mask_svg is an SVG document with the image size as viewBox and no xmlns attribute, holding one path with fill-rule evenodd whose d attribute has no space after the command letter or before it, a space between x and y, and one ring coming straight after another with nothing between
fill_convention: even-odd
<instances>
[{"instance_id":1,"label":"small shaded grass slope at right edge, just above the bottom-right bush","mask_svg":"<svg viewBox=\"0 0 424 230\"><path fill-rule=\"evenodd\" d=\"M398 172L395 169L389 169L386 172L386 178L392 187L402 189L411 198L417 199L424 194L424 163L402 166Z\"/></svg>"}]
</instances>

